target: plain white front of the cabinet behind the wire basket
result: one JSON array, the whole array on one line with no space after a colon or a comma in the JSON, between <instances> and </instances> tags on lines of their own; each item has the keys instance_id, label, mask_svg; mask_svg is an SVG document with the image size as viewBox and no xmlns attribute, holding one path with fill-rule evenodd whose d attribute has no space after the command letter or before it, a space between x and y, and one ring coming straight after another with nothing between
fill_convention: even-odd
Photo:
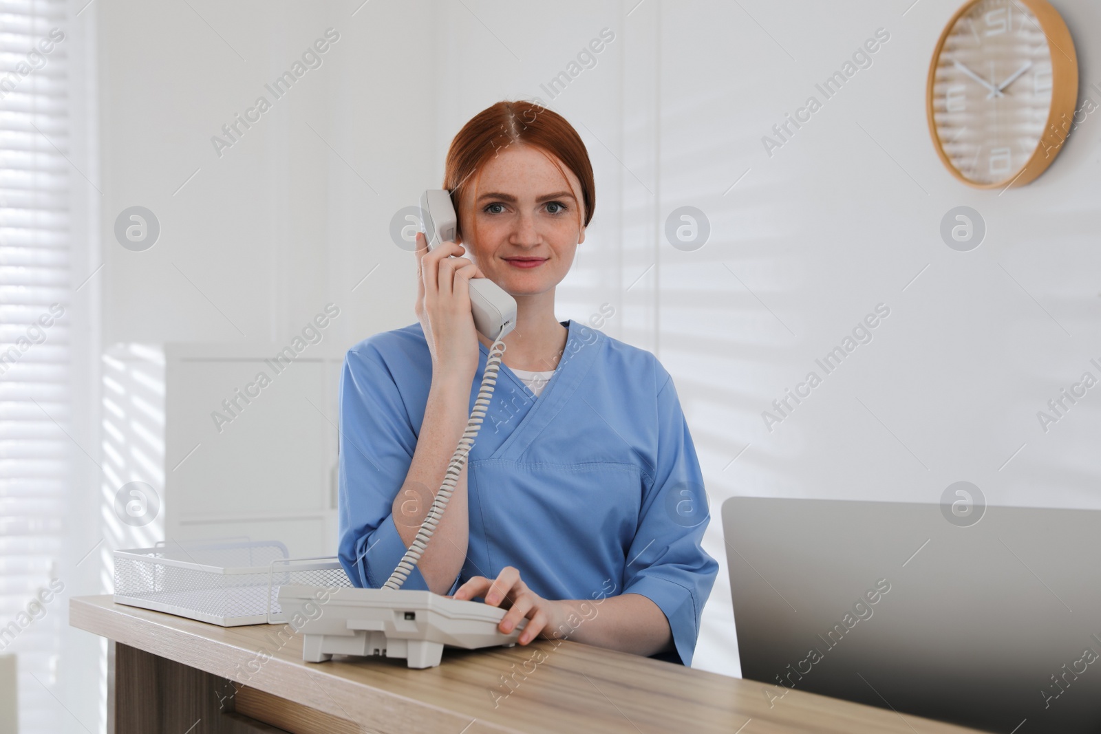
<instances>
[{"instance_id":1,"label":"plain white front of the cabinet behind the wire basket","mask_svg":"<svg viewBox=\"0 0 1101 734\"><path fill-rule=\"evenodd\" d=\"M165 535L337 548L337 387L344 352L165 346ZM290 354L290 355L287 355ZM293 357L293 358L292 358Z\"/></svg>"}]
</instances>

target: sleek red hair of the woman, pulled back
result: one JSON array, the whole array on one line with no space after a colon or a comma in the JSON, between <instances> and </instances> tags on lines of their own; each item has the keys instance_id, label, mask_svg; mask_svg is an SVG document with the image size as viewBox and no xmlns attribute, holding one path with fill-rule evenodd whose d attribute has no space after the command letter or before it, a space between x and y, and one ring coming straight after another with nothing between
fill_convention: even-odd
<instances>
[{"instance_id":1,"label":"sleek red hair of the woman, pulled back","mask_svg":"<svg viewBox=\"0 0 1101 734\"><path fill-rule=\"evenodd\" d=\"M538 149L562 173L569 186L569 178L562 169L560 161L581 184L584 223L578 212L578 229L588 227L597 206L597 191L592 180L592 164L581 136L566 118L536 102L500 101L487 107L462 125L447 150L444 167L444 188L451 193L451 201L459 215L458 233L462 232L459 204L470 186L473 176L475 196L481 169L491 156L502 147L513 144L531 145ZM473 232L471 232L472 234Z\"/></svg>"}]
</instances>

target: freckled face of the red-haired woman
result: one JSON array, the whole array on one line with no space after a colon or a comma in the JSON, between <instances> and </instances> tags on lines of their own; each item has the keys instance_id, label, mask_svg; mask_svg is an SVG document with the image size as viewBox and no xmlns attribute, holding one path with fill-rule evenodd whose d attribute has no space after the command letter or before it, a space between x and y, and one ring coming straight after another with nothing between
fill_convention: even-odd
<instances>
[{"instance_id":1,"label":"freckled face of the red-haired woman","mask_svg":"<svg viewBox=\"0 0 1101 734\"><path fill-rule=\"evenodd\" d=\"M585 241L581 184L555 158L564 180L549 155L522 144L501 149L482 167L477 190L469 186L460 202L460 244L486 277L513 296L558 285Z\"/></svg>"}]
</instances>

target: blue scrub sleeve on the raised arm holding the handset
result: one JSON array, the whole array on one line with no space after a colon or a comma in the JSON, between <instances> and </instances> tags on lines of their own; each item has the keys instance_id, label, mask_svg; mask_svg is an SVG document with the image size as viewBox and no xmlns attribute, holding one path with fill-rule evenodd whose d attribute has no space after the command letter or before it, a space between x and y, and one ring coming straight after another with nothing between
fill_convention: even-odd
<instances>
[{"instance_id":1,"label":"blue scrub sleeve on the raised arm holding the handset","mask_svg":"<svg viewBox=\"0 0 1101 734\"><path fill-rule=\"evenodd\" d=\"M393 376L368 349L349 350L340 375L338 557L355 585L378 589L407 549L392 506L416 435ZM402 588L428 585L414 568Z\"/></svg>"}]
</instances>

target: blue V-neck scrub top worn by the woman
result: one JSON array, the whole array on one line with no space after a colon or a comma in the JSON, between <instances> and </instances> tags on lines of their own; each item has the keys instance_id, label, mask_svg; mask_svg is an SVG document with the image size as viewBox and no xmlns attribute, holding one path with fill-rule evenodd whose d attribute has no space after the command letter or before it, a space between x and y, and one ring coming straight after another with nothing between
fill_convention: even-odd
<instances>
[{"instance_id":1,"label":"blue V-neck scrub top worn by the woman","mask_svg":"<svg viewBox=\"0 0 1101 734\"><path fill-rule=\"evenodd\" d=\"M655 657L690 665L719 565L700 546L710 514L673 381L650 352L573 320L563 326L566 349L537 398L501 364L469 456L469 544L448 593L513 566L544 599L642 594L661 607L676 645L676 655ZM471 408L488 354L482 346ZM339 558L357 585L381 587L406 550L391 507L430 384L419 324L348 350ZM427 584L414 568L403 588Z\"/></svg>"}]
</instances>

